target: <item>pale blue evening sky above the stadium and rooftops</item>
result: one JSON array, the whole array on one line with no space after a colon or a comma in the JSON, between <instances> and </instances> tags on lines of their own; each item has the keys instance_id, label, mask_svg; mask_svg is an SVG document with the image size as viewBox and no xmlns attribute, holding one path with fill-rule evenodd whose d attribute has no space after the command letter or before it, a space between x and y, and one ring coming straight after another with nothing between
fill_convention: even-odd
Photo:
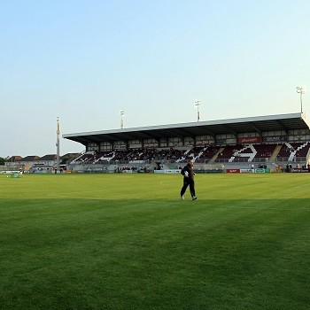
<instances>
[{"instance_id":1,"label":"pale blue evening sky above the stadium and rooftops","mask_svg":"<svg viewBox=\"0 0 310 310\"><path fill-rule=\"evenodd\" d=\"M308 0L0 0L0 157L61 134L309 113ZM310 115L309 115L310 117ZM60 155L80 152L60 139Z\"/></svg>"}]
</instances>

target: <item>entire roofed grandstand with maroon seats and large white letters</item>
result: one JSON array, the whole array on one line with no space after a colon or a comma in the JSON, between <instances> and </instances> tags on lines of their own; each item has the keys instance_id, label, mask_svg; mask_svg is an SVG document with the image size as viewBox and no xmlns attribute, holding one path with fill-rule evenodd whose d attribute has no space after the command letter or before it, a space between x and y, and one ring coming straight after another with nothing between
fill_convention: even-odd
<instances>
[{"instance_id":1,"label":"entire roofed grandstand with maroon seats and large white letters","mask_svg":"<svg viewBox=\"0 0 310 310\"><path fill-rule=\"evenodd\" d=\"M300 112L63 137L85 146L66 163L76 172L177 170L189 158L201 172L310 170L310 127Z\"/></svg>"}]
</instances>

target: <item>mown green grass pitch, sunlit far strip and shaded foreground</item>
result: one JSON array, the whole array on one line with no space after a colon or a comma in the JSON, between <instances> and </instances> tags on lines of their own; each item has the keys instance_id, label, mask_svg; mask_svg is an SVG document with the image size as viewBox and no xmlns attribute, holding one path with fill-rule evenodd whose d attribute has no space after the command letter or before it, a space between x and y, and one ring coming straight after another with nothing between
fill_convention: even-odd
<instances>
[{"instance_id":1,"label":"mown green grass pitch, sunlit far strip and shaded foreground","mask_svg":"<svg viewBox=\"0 0 310 310\"><path fill-rule=\"evenodd\" d=\"M310 308L310 177L0 174L0 309Z\"/></svg>"}]
</instances>

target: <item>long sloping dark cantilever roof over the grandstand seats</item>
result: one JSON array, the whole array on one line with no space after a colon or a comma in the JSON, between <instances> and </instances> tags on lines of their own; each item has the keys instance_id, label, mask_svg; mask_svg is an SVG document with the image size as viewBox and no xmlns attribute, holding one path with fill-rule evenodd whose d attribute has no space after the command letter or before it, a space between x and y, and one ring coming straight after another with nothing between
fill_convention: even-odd
<instances>
[{"instance_id":1,"label":"long sloping dark cantilever roof over the grandstand seats","mask_svg":"<svg viewBox=\"0 0 310 310\"><path fill-rule=\"evenodd\" d=\"M150 126L141 128L122 128L114 130L91 131L63 135L64 138L87 145L103 141L128 141L141 139L157 139L174 136L215 136L270 131L309 129L310 123L303 113L279 114L231 120L207 120L182 124Z\"/></svg>"}]
</instances>

